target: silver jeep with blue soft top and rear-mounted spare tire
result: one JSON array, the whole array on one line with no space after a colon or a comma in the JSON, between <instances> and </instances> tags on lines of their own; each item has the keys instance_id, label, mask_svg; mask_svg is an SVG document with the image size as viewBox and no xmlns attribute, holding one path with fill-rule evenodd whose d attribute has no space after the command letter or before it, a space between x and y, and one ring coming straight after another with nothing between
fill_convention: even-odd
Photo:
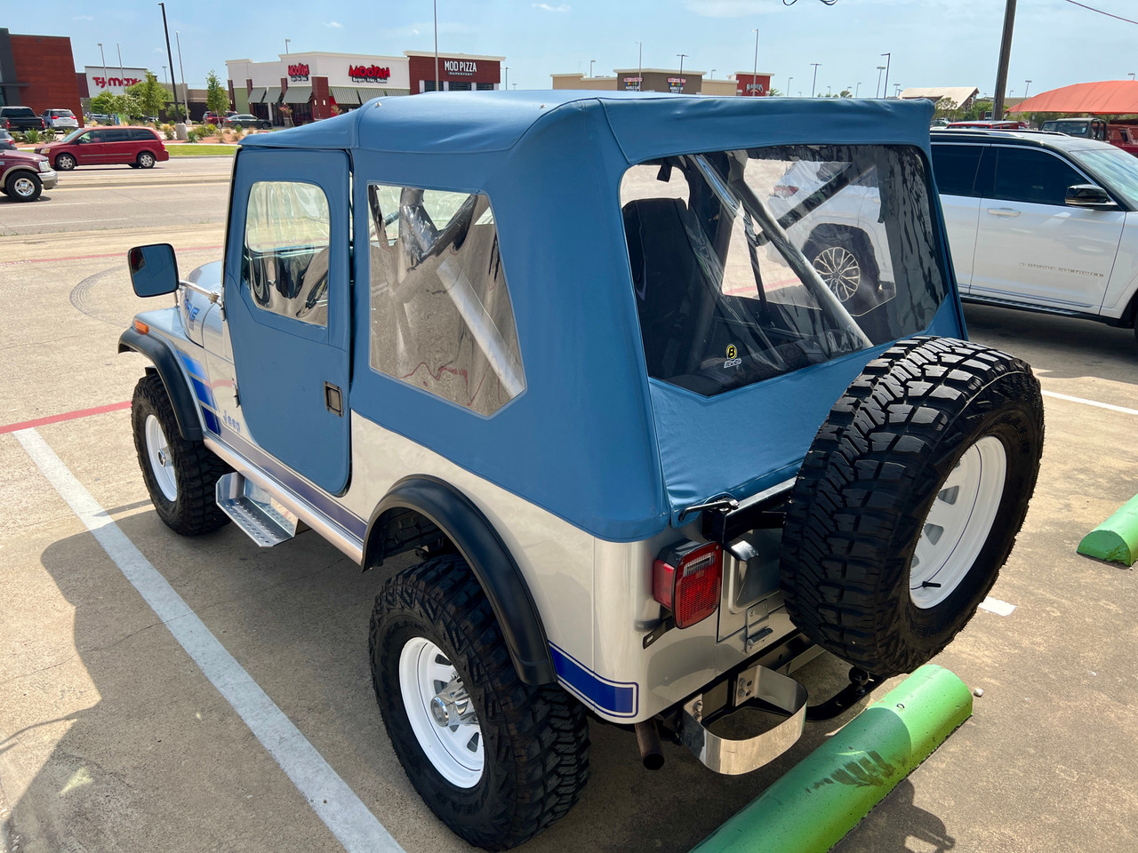
<instances>
[{"instance_id":1,"label":"silver jeep with blue soft top and rear-mounted spare tire","mask_svg":"<svg viewBox=\"0 0 1138 853\"><path fill-rule=\"evenodd\" d=\"M118 343L150 361L131 421L159 519L308 531L374 572L391 745L492 850L578 800L586 710L649 760L662 730L742 773L802 731L787 673L815 644L851 688L926 661L1038 472L1030 367L962 340L931 105L626 94L255 135L223 262L180 283L168 245L127 255L137 295L179 295ZM777 215L800 160L830 176ZM871 174L896 288L855 317L782 223ZM757 706L782 721L710 728Z\"/></svg>"}]
</instances>

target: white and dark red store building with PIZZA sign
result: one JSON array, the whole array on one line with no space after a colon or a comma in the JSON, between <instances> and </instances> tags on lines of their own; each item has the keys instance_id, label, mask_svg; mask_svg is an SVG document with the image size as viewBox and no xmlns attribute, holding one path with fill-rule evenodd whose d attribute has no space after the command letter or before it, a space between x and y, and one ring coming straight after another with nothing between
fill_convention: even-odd
<instances>
[{"instance_id":1,"label":"white and dark red store building with PIZZA sign","mask_svg":"<svg viewBox=\"0 0 1138 853\"><path fill-rule=\"evenodd\" d=\"M305 124L355 109L372 98L497 89L505 57L405 50L402 56L281 53L275 60L225 63L238 113L273 124Z\"/></svg>"}]
</instances>

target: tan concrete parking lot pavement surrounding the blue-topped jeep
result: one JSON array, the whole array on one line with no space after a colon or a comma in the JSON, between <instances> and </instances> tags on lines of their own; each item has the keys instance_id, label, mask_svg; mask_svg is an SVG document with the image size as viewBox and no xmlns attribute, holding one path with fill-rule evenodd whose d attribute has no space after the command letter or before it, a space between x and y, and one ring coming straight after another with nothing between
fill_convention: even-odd
<instances>
[{"instance_id":1,"label":"tan concrete parking lot pavement surrounding the blue-topped jeep","mask_svg":"<svg viewBox=\"0 0 1138 853\"><path fill-rule=\"evenodd\" d=\"M387 742L366 659L371 575L314 533L264 550L232 525L180 538L142 485L125 404L145 362L115 350L154 303L131 292L124 252L171 242L183 275L218 257L230 167L76 172L50 200L0 200L0 851L396 850L379 825L409 853L467 850ZM983 690L973 718L838 850L1132 853L1138 578L1074 549L1138 492L1138 346L1131 330L966 315L1047 395L1039 486L992 590L1014 610L979 611L939 656ZM109 522L114 553L89 529ZM113 557L152 566L188 611L164 623ZM192 620L247 674L233 689L263 691L258 707L299 739L284 723L258 739L278 718L234 710L175 639ZM844 666L822 657L800 674L822 698ZM844 719L809 724L741 778L668 744L648 772L629 732L594 724L582 802L523 850L687 851ZM289 761L330 776L298 787ZM321 802L329 780L345 787Z\"/></svg>"}]
</instances>

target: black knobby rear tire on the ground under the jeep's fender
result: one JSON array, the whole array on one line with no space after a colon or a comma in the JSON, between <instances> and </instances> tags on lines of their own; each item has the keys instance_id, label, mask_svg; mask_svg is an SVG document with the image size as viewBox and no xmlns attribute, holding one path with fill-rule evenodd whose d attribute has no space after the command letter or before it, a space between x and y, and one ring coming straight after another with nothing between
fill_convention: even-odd
<instances>
[{"instance_id":1,"label":"black knobby rear tire on the ground under the jeep's fender","mask_svg":"<svg viewBox=\"0 0 1138 853\"><path fill-rule=\"evenodd\" d=\"M423 752L403 701L399 655L424 637L443 649L469 691L484 738L481 777L446 778ZM456 835L508 850L562 818L588 780L588 724L556 685L522 684L489 602L462 557L434 557L391 578L376 598L369 636L372 685L407 778Z\"/></svg>"}]
</instances>

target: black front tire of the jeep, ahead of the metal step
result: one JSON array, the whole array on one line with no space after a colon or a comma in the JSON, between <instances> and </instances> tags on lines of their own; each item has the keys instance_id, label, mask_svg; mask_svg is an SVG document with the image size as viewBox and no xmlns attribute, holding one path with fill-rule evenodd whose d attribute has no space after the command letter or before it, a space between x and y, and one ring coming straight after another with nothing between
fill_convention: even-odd
<instances>
[{"instance_id":1,"label":"black front tire of the jeep, ahead of the metal step","mask_svg":"<svg viewBox=\"0 0 1138 853\"><path fill-rule=\"evenodd\" d=\"M170 461L174 470L176 495L173 500L163 494L155 478L147 448L146 422L154 415L165 433ZM131 426L138 452L142 480L154 508L166 525L182 536L209 533L229 523L215 498L217 479L232 469L214 455L201 441L188 441L178 429L178 419L170 396L157 373L148 373L134 387L131 403Z\"/></svg>"}]
</instances>

